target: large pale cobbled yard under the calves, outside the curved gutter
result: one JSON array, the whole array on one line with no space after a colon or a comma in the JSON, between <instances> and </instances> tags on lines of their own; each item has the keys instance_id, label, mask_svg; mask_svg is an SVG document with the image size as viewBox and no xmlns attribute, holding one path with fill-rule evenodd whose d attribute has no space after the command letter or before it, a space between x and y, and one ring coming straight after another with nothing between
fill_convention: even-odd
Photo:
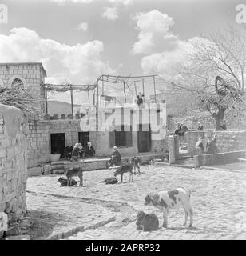
<instances>
[{"instance_id":1,"label":"large pale cobbled yard under the calves, outside the curved gutter","mask_svg":"<svg viewBox=\"0 0 246 256\"><path fill-rule=\"evenodd\" d=\"M90 208L94 205L100 205L114 214L115 221L97 229L78 232L68 236L67 239L246 238L246 174L244 171L195 170L161 165L141 166L141 175L134 175L134 182L128 182L129 177L126 174L123 183L116 185L100 183L103 178L112 175L112 170L85 172L84 187L60 187L57 183L58 176L31 177L28 178L27 190L39 195L46 193L50 196L67 197L70 198L69 200L76 199L77 206L84 209L85 216L87 215L86 209L88 209L88 214L94 214L93 209ZM194 212L192 229L181 226L185 214L180 209L170 210L168 229L160 228L153 232L137 231L135 225L137 211L134 210L155 213L162 223L160 211L144 206L145 195L149 192L170 190L179 186L187 187L192 191L191 203ZM65 211L69 209L73 201L65 206L66 201L63 199L60 200L62 200ZM82 201L79 202L79 199ZM113 202L121 204L121 208L112 208ZM52 204L53 199L50 199L50 206ZM30 206L29 201L28 207ZM97 216L97 211L95 211L95 216ZM100 217L97 221L99 220ZM86 221L90 223L89 218Z\"/></svg>"}]
</instances>

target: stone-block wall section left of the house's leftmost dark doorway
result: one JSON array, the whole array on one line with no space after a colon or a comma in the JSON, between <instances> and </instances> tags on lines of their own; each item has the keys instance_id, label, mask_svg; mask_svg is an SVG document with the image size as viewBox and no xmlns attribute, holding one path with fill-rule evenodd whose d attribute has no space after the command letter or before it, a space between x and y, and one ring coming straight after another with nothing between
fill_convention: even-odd
<instances>
[{"instance_id":1,"label":"stone-block wall section left of the house's leftmost dark doorway","mask_svg":"<svg viewBox=\"0 0 246 256\"><path fill-rule=\"evenodd\" d=\"M49 122L29 122L28 167L50 161Z\"/></svg>"}]
</instances>

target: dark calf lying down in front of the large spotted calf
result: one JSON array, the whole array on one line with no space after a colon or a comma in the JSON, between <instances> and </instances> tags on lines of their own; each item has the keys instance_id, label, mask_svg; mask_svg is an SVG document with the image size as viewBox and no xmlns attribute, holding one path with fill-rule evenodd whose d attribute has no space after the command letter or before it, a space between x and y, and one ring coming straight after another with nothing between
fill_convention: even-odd
<instances>
[{"instance_id":1,"label":"dark calf lying down in front of the large spotted calf","mask_svg":"<svg viewBox=\"0 0 246 256\"><path fill-rule=\"evenodd\" d=\"M155 214L145 214L143 211L137 214L137 230L153 231L158 230L159 220Z\"/></svg>"}]
</instances>

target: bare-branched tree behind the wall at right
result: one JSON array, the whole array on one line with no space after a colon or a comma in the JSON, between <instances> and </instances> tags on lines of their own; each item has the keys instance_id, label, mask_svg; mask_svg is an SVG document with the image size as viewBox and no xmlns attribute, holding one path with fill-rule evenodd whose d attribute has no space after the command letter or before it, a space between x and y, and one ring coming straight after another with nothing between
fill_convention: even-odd
<instances>
[{"instance_id":1,"label":"bare-branched tree behind the wall at right","mask_svg":"<svg viewBox=\"0 0 246 256\"><path fill-rule=\"evenodd\" d=\"M192 53L171 82L195 93L200 110L208 110L220 130L225 114L240 118L245 113L246 35L229 26L204 38L192 42Z\"/></svg>"}]
</instances>

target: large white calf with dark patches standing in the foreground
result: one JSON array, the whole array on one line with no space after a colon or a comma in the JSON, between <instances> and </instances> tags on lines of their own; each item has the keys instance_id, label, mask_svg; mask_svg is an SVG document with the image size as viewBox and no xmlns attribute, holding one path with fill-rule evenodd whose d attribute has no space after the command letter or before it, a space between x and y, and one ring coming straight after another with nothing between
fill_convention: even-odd
<instances>
[{"instance_id":1,"label":"large white calf with dark patches standing in the foreground","mask_svg":"<svg viewBox=\"0 0 246 256\"><path fill-rule=\"evenodd\" d=\"M185 223L189 215L189 227L192 226L193 210L190 205L191 191L184 188L177 188L176 190L161 191L156 194L148 194L145 197L145 206L155 206L163 212L163 226L168 226L168 212L169 209L178 209L183 207L185 210Z\"/></svg>"}]
</instances>

